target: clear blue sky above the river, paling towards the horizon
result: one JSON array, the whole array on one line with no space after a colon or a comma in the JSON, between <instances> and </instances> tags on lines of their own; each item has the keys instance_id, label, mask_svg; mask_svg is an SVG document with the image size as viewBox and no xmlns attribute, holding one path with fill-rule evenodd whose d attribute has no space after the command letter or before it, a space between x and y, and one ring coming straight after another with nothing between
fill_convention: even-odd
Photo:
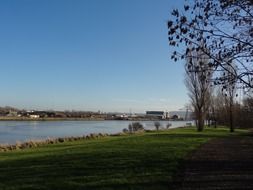
<instances>
[{"instance_id":1,"label":"clear blue sky above the river, paling towards the horizon","mask_svg":"<svg viewBox=\"0 0 253 190\"><path fill-rule=\"evenodd\" d=\"M0 106L144 112L188 102L167 26L183 0L0 1Z\"/></svg>"}]
</instances>

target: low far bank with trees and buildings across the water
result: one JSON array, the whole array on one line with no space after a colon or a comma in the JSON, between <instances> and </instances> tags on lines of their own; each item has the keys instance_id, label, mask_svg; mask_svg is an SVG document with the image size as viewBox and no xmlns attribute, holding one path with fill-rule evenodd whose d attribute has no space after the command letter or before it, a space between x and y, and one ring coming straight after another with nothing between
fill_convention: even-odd
<instances>
[{"instance_id":1,"label":"low far bank with trees and buildings across the water","mask_svg":"<svg viewBox=\"0 0 253 190\"><path fill-rule=\"evenodd\" d=\"M125 114L125 113L102 113L100 111L38 111L17 109L6 106L0 107L0 120L183 120L183 118L173 115L163 118L161 115L148 114Z\"/></svg>"}]
</instances>

